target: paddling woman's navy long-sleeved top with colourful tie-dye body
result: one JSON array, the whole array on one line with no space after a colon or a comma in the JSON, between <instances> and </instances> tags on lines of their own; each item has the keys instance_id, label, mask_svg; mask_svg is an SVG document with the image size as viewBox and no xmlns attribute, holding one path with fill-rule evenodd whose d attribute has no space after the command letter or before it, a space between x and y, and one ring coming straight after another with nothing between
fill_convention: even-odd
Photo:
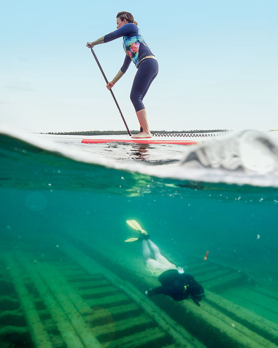
<instances>
[{"instance_id":1,"label":"paddling woman's navy long-sleeved top with colourful tie-dye body","mask_svg":"<svg viewBox=\"0 0 278 348\"><path fill-rule=\"evenodd\" d=\"M138 68L140 60L146 56L153 56L151 50L143 39L137 25L133 23L126 23L119 29L104 36L103 41L109 42L120 37L124 37L124 50L126 58L121 67L121 71L125 73L131 61Z\"/></svg>"}]
</instances>

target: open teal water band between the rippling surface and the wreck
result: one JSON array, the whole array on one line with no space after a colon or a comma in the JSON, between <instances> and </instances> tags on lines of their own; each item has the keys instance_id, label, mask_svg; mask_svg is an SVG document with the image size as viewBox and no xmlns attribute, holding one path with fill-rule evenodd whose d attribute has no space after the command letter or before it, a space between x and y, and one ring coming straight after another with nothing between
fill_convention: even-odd
<instances>
[{"instance_id":1,"label":"open teal water band between the rippling surface and the wreck","mask_svg":"<svg viewBox=\"0 0 278 348\"><path fill-rule=\"evenodd\" d=\"M125 197L100 192L2 189L2 238L12 239L11 245L17 246L32 234L48 241L49 233L61 236L82 231L100 240L110 239L115 245L132 235L125 220L136 219L166 251L176 250L179 264L189 261L187 255L193 250L200 257L209 250L210 258L223 259L239 269L263 270L267 283L277 284L276 205L254 202L253 195L252 203L245 203L235 199L240 192L222 190L222 196L231 197L225 201L209 197L215 195L212 191L179 191L174 188L174 196L151 192L143 197Z\"/></svg>"}]
</instances>

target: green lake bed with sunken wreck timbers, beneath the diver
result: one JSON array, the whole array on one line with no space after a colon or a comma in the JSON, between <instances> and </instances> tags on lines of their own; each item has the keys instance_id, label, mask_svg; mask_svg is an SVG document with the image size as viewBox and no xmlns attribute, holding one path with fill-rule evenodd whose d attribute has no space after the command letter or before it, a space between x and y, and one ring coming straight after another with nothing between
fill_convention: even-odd
<instances>
[{"instance_id":1,"label":"green lake bed with sunken wreck timbers, beneath the diver","mask_svg":"<svg viewBox=\"0 0 278 348\"><path fill-rule=\"evenodd\" d=\"M34 236L29 245L5 247L0 347L277 347L277 292L244 271L196 257L188 268L205 288L200 307L147 298L144 291L159 284L139 251L136 243L115 249L82 234L55 248Z\"/></svg>"}]
</instances>

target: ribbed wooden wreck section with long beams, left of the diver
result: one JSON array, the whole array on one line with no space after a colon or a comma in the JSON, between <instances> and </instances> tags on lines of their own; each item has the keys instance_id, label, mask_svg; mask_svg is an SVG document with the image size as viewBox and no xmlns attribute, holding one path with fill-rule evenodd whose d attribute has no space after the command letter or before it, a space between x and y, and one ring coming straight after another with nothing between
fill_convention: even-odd
<instances>
[{"instance_id":1,"label":"ribbed wooden wreck section with long beams, left of the diver","mask_svg":"<svg viewBox=\"0 0 278 348\"><path fill-rule=\"evenodd\" d=\"M38 348L204 348L132 284L67 245L56 258L5 253Z\"/></svg>"}]
</instances>

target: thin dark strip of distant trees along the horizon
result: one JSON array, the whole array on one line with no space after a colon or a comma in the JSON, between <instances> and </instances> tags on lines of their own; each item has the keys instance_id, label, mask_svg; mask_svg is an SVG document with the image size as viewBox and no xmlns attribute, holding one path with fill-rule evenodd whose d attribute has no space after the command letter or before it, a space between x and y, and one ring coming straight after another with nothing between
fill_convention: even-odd
<instances>
[{"instance_id":1,"label":"thin dark strip of distant trees along the horizon","mask_svg":"<svg viewBox=\"0 0 278 348\"><path fill-rule=\"evenodd\" d=\"M228 129L194 129L194 130L152 130L153 133L213 133L227 132ZM139 133L139 130L130 130L131 134ZM56 134L56 135L116 135L127 134L126 130L87 130L86 132L60 132L60 133L40 133L40 134Z\"/></svg>"}]
</instances>

